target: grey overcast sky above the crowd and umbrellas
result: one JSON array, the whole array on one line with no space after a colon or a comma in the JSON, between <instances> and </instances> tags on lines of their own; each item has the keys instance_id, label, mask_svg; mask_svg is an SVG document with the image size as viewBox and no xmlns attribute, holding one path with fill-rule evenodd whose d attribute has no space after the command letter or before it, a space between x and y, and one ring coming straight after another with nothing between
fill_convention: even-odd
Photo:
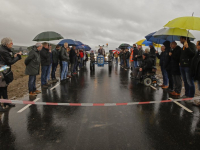
<instances>
[{"instance_id":1,"label":"grey overcast sky above the crowd and umbrellas","mask_svg":"<svg viewBox=\"0 0 200 150\"><path fill-rule=\"evenodd\" d=\"M0 38L30 46L43 31L56 31L94 48L133 44L182 16L200 17L199 0L0 0ZM200 39L200 31L192 31ZM59 41L54 41L57 43Z\"/></svg>"}]
</instances>

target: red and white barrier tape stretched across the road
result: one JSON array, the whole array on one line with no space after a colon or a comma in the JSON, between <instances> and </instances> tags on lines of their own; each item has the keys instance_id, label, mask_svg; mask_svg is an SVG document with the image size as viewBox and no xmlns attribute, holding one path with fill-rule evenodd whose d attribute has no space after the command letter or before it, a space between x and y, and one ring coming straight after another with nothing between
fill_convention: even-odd
<instances>
[{"instance_id":1,"label":"red and white barrier tape stretched across the road","mask_svg":"<svg viewBox=\"0 0 200 150\"><path fill-rule=\"evenodd\" d=\"M130 106L130 105L144 105L144 104L158 104L169 103L189 100L199 100L200 97L176 99L176 100L162 100L162 101L147 101L147 102L128 102L128 103L50 103L50 102L33 102L33 101L20 101L20 100L5 100L0 99L0 103L13 103L13 104L32 104L32 105L51 105L51 106Z\"/></svg>"}]
</instances>

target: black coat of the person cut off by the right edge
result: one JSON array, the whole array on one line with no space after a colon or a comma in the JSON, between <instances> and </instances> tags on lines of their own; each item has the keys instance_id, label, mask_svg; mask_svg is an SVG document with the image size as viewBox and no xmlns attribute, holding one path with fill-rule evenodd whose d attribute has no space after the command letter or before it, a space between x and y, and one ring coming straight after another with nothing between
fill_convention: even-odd
<instances>
[{"instance_id":1,"label":"black coat of the person cut off by the right edge","mask_svg":"<svg viewBox=\"0 0 200 150\"><path fill-rule=\"evenodd\" d=\"M200 81L200 51L196 53L191 61L190 72L195 81Z\"/></svg>"}]
</instances>

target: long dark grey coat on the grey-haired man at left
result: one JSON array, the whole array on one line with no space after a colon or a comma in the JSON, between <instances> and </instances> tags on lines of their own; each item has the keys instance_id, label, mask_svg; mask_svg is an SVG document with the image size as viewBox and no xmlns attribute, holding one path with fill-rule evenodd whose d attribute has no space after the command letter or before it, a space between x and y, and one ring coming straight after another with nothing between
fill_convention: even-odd
<instances>
[{"instance_id":1,"label":"long dark grey coat on the grey-haired man at left","mask_svg":"<svg viewBox=\"0 0 200 150\"><path fill-rule=\"evenodd\" d=\"M35 46L29 52L28 57L24 61L26 65L26 75L39 75L40 73L40 52Z\"/></svg>"}]
</instances>

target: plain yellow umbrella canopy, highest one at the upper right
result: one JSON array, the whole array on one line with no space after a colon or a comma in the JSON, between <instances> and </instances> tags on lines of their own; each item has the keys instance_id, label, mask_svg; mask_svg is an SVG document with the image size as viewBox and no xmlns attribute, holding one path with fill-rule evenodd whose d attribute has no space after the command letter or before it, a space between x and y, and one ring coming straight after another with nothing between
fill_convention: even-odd
<instances>
[{"instance_id":1,"label":"plain yellow umbrella canopy, highest one at the upper right","mask_svg":"<svg viewBox=\"0 0 200 150\"><path fill-rule=\"evenodd\" d=\"M188 30L200 31L200 18L199 17L179 17L169 21L164 27L180 28Z\"/></svg>"}]
</instances>

